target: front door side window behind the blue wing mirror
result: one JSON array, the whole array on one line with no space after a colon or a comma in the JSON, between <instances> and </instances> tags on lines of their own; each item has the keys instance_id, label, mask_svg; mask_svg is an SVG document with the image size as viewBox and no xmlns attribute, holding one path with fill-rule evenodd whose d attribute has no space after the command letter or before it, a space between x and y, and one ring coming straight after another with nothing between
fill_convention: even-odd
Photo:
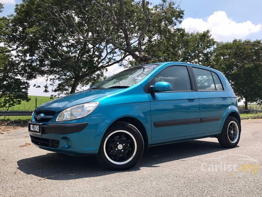
<instances>
[{"instance_id":1,"label":"front door side window behind the blue wing mirror","mask_svg":"<svg viewBox=\"0 0 262 197\"><path fill-rule=\"evenodd\" d=\"M189 74L185 66L170 66L165 68L150 81L150 85L162 81L170 83L172 91L191 90Z\"/></svg>"}]
</instances>

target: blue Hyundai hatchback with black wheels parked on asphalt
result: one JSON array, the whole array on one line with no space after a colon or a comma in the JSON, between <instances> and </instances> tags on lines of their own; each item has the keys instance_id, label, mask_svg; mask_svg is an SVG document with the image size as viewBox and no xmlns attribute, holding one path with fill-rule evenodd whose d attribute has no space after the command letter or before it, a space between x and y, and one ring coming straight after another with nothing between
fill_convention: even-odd
<instances>
[{"instance_id":1,"label":"blue Hyundai hatchback with black wheels parked on asphalt","mask_svg":"<svg viewBox=\"0 0 262 197\"><path fill-rule=\"evenodd\" d=\"M240 138L236 96L214 69L180 62L132 67L89 89L49 101L28 123L33 144L69 155L95 154L111 170L136 165L148 147Z\"/></svg>"}]
</instances>

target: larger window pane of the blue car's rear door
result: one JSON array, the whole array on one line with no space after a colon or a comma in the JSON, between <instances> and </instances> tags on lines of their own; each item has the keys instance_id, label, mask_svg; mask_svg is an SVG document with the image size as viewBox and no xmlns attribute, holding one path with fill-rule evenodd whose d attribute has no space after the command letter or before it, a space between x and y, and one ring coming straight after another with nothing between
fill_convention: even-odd
<instances>
[{"instance_id":1,"label":"larger window pane of the blue car's rear door","mask_svg":"<svg viewBox=\"0 0 262 197\"><path fill-rule=\"evenodd\" d=\"M215 84L210 71L194 68L193 72L196 77L196 84L200 91L215 91Z\"/></svg>"}]
</instances>

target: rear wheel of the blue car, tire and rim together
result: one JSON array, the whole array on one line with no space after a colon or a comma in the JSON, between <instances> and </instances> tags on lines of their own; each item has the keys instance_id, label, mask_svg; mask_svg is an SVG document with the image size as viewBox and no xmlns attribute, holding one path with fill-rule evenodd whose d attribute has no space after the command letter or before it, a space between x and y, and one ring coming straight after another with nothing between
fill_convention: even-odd
<instances>
[{"instance_id":1,"label":"rear wheel of the blue car, tire and rim together","mask_svg":"<svg viewBox=\"0 0 262 197\"><path fill-rule=\"evenodd\" d=\"M224 148L234 148L240 139L241 127L237 119L228 116L218 137L219 144Z\"/></svg>"}]
</instances>

